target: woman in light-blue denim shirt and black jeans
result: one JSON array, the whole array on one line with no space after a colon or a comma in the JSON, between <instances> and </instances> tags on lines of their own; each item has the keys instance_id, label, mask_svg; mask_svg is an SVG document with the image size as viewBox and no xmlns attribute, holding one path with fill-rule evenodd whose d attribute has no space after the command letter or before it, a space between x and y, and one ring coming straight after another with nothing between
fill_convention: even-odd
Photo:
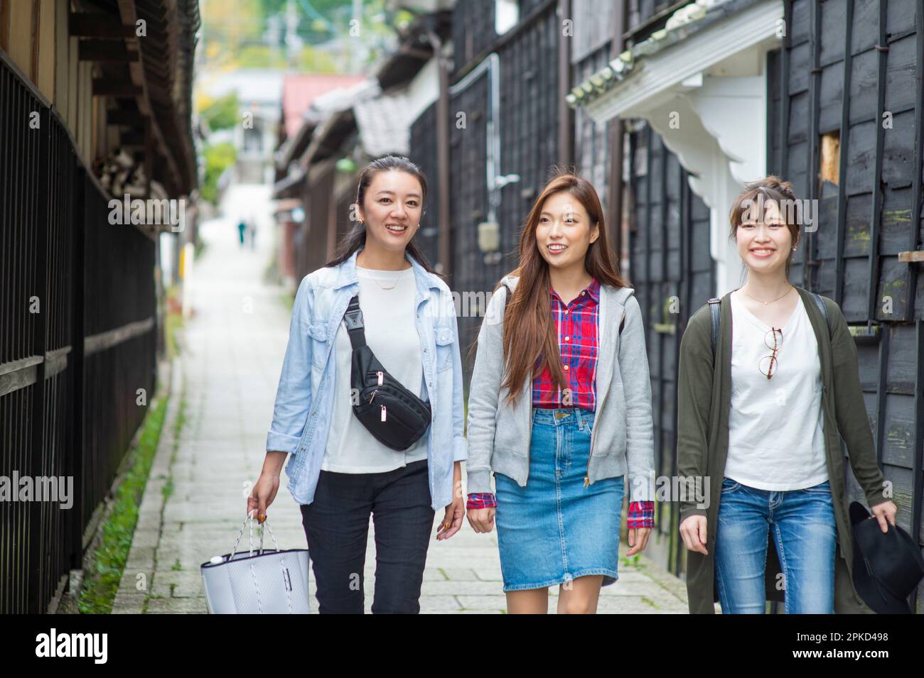
<instances>
[{"instance_id":1,"label":"woman in light-blue denim shirt and black jeans","mask_svg":"<svg viewBox=\"0 0 924 678\"><path fill-rule=\"evenodd\" d=\"M418 613L435 510L436 539L465 515L461 491L462 368L448 286L411 241L426 179L387 156L361 172L359 220L334 259L298 287L260 479L248 511L265 519L291 453L288 489L301 505L321 613L363 612L370 515L376 570L372 613ZM359 294L366 342L389 374L430 401L432 422L403 451L383 446L352 411L352 347L343 316Z\"/></svg>"}]
</instances>

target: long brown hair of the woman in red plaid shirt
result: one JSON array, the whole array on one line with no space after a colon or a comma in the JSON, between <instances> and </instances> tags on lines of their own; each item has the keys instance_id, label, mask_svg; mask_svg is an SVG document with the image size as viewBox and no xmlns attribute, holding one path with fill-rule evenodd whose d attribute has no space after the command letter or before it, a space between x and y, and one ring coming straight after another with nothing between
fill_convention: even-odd
<instances>
[{"instance_id":1,"label":"long brown hair of the woman in red plaid shirt","mask_svg":"<svg viewBox=\"0 0 924 678\"><path fill-rule=\"evenodd\" d=\"M601 284L615 288L627 286L627 281L615 271L613 256L606 241L606 224L600 197L597 196L593 185L573 172L555 168L552 179L545 184L529 211L520 234L519 266L508 274L519 277L517 289L507 300L504 314L504 327L508 331L504 332L506 369L502 387L509 390L507 402L511 405L517 401L527 376L538 377L546 364L550 367L557 387L564 387L567 383L558 353L558 338L549 303L549 265L539 253L536 243L536 227L539 224L542 206L549 196L562 191L575 196L584 206L590 215L591 229L594 223L600 227L600 234L590 243L584 256L584 268ZM500 286L501 283L498 282L494 291ZM517 331L510 331L514 327ZM539 357L541 363L536 367Z\"/></svg>"}]
</instances>

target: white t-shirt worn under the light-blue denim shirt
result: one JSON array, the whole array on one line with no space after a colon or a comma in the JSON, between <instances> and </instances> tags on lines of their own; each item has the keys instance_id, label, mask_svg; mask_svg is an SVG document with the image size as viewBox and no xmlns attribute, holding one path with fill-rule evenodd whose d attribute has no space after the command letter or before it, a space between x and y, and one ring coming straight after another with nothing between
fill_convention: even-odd
<instances>
[{"instance_id":1,"label":"white t-shirt worn under the light-blue denim shirt","mask_svg":"<svg viewBox=\"0 0 924 678\"><path fill-rule=\"evenodd\" d=\"M390 375L422 398L423 363L415 317L417 283L414 269L357 267L356 272L366 344ZM399 451L384 446L359 422L350 400L353 347L343 321L334 342L334 410L321 469L338 473L383 473L426 459L429 432L414 445Z\"/></svg>"}]
</instances>

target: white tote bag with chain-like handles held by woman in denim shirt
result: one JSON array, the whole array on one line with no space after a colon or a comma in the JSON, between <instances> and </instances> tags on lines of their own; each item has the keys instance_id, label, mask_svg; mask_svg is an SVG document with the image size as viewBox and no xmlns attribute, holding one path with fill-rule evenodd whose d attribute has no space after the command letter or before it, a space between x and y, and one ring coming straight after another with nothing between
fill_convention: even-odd
<instances>
[{"instance_id":1,"label":"white tote bag with chain-like handles held by woman in denim shirt","mask_svg":"<svg viewBox=\"0 0 924 678\"><path fill-rule=\"evenodd\" d=\"M213 614L308 614L309 557L307 549L280 551L266 521L260 526L260 548L253 549L250 511L231 553L216 555L200 565L205 600ZM244 528L250 526L250 548L237 553ZM263 549L263 527L270 529L274 549Z\"/></svg>"}]
</instances>

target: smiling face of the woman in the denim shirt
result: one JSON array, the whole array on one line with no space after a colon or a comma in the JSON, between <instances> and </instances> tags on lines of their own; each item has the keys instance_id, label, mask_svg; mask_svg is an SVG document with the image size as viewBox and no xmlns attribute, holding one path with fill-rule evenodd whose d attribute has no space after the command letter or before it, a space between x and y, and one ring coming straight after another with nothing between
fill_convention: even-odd
<instances>
[{"instance_id":1,"label":"smiling face of the woman in the denim shirt","mask_svg":"<svg viewBox=\"0 0 924 678\"><path fill-rule=\"evenodd\" d=\"M413 174L399 170L377 172L372 177L359 219L366 224L369 240L388 250L403 252L420 226L423 196Z\"/></svg>"}]
</instances>

